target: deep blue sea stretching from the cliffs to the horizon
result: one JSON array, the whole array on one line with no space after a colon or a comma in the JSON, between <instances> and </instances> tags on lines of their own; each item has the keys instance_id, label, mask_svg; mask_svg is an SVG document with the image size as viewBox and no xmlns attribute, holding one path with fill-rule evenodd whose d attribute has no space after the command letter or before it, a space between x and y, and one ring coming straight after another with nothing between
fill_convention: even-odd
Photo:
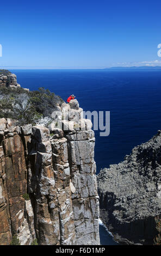
<instances>
[{"instance_id":1,"label":"deep blue sea stretching from the cliffs to the horizon","mask_svg":"<svg viewBox=\"0 0 161 256\"><path fill-rule=\"evenodd\" d=\"M13 70L22 87L45 87L65 101L75 94L85 111L110 111L110 135L95 131L97 172L119 163L161 128L161 72Z\"/></svg>"}]
</instances>

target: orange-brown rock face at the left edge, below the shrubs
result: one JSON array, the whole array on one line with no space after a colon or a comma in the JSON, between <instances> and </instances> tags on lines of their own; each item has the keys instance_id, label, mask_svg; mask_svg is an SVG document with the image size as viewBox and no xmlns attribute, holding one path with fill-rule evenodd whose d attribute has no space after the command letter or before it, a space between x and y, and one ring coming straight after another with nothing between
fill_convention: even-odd
<instances>
[{"instance_id":1,"label":"orange-brown rock face at the left edge, below the shrubs","mask_svg":"<svg viewBox=\"0 0 161 256\"><path fill-rule=\"evenodd\" d=\"M8 245L13 235L22 244L34 239L30 232L33 220L24 214L27 193L26 146L29 137L22 137L20 127L12 126L10 119L0 119L0 244Z\"/></svg>"}]
</instances>

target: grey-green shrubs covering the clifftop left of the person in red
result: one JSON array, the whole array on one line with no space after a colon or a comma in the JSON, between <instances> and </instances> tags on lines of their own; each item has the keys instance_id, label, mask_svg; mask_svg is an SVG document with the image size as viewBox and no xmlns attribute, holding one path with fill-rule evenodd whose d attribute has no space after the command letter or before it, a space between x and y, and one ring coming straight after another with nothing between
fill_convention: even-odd
<instances>
[{"instance_id":1,"label":"grey-green shrubs covering the clifftop left of the person in red","mask_svg":"<svg viewBox=\"0 0 161 256\"><path fill-rule=\"evenodd\" d=\"M0 118L17 119L18 125L35 124L42 117L51 117L63 102L60 96L43 87L30 92L21 87L0 87Z\"/></svg>"}]
</instances>

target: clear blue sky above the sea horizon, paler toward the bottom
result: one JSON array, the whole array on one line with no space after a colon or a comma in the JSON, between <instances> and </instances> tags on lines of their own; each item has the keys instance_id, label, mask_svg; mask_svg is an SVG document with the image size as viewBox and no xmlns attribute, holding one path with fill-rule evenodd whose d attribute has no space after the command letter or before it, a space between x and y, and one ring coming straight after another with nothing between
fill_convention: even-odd
<instances>
[{"instance_id":1,"label":"clear blue sky above the sea horizon, paler toward the bottom","mask_svg":"<svg viewBox=\"0 0 161 256\"><path fill-rule=\"evenodd\" d=\"M161 65L160 1L1 3L0 67Z\"/></svg>"}]
</instances>

